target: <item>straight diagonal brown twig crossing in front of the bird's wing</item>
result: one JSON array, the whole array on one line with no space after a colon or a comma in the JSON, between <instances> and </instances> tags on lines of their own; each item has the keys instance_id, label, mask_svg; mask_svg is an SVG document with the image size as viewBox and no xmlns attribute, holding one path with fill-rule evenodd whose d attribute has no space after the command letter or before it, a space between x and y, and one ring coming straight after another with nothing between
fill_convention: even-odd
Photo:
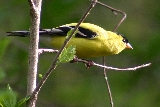
<instances>
[{"instance_id":1,"label":"straight diagonal brown twig crossing in front of the bird's wing","mask_svg":"<svg viewBox=\"0 0 160 107\"><path fill-rule=\"evenodd\" d=\"M46 72L46 74L43 76L42 80L38 83L37 87L35 88L32 96L35 96L39 93L41 87L43 86L43 84L45 83L45 81L47 80L47 78L49 77L49 75L51 74L51 72L53 71L53 69L55 69L57 67L57 61L58 61L58 57L60 56L60 54L62 53L62 51L64 50L65 46L68 44L68 42L70 41L70 39L72 38L74 32L78 29L79 25L84 21L84 19L87 17L87 15L89 14L89 12L91 11L91 9L95 6L97 0L94 0L91 2L90 6L88 7L88 9L85 11L84 15L82 16L82 18L79 20L78 24L75 26L74 30L72 31L72 33L70 34L70 36L68 38L66 38L66 40L64 41L63 46L61 47L61 49L59 50L59 53L56 55L56 57L53 60L52 65L50 66L50 68L48 69L48 71Z\"/></svg>"}]
</instances>

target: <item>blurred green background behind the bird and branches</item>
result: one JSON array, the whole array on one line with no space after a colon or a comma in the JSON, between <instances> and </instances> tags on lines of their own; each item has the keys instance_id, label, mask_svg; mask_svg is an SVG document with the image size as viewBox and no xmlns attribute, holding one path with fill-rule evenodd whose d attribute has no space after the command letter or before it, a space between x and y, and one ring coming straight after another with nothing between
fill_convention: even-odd
<instances>
[{"instance_id":1,"label":"blurred green background behind the bird and branches","mask_svg":"<svg viewBox=\"0 0 160 107\"><path fill-rule=\"evenodd\" d=\"M136 71L107 70L115 107L159 107L160 105L160 1L99 0L127 13L127 19L117 29L133 46L119 55L107 56L106 65L126 68L151 62ZM52 28L78 22L89 0L43 0L41 28ZM7 84L25 97L28 71L29 38L7 37L6 31L28 30L30 27L27 0L1 0L0 6L0 91ZM84 22L113 30L117 16L96 5ZM40 47L47 48L40 44ZM38 73L44 74L55 54L39 57ZM102 63L102 58L92 58ZM40 80L40 79L38 79ZM39 93L37 107L109 107L110 100L102 68L86 69L83 63L60 64L50 75Z\"/></svg>"}]
</instances>

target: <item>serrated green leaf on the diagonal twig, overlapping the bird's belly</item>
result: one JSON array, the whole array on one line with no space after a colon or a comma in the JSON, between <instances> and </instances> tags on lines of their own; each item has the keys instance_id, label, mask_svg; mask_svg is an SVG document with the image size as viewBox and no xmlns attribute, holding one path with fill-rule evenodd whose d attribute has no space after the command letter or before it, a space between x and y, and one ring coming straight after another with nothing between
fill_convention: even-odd
<instances>
[{"instance_id":1,"label":"serrated green leaf on the diagonal twig, overlapping the bird's belly","mask_svg":"<svg viewBox=\"0 0 160 107\"><path fill-rule=\"evenodd\" d=\"M76 53L76 46L70 45L68 48L64 48L63 52L58 58L57 64L66 63L74 58Z\"/></svg>"}]
</instances>

